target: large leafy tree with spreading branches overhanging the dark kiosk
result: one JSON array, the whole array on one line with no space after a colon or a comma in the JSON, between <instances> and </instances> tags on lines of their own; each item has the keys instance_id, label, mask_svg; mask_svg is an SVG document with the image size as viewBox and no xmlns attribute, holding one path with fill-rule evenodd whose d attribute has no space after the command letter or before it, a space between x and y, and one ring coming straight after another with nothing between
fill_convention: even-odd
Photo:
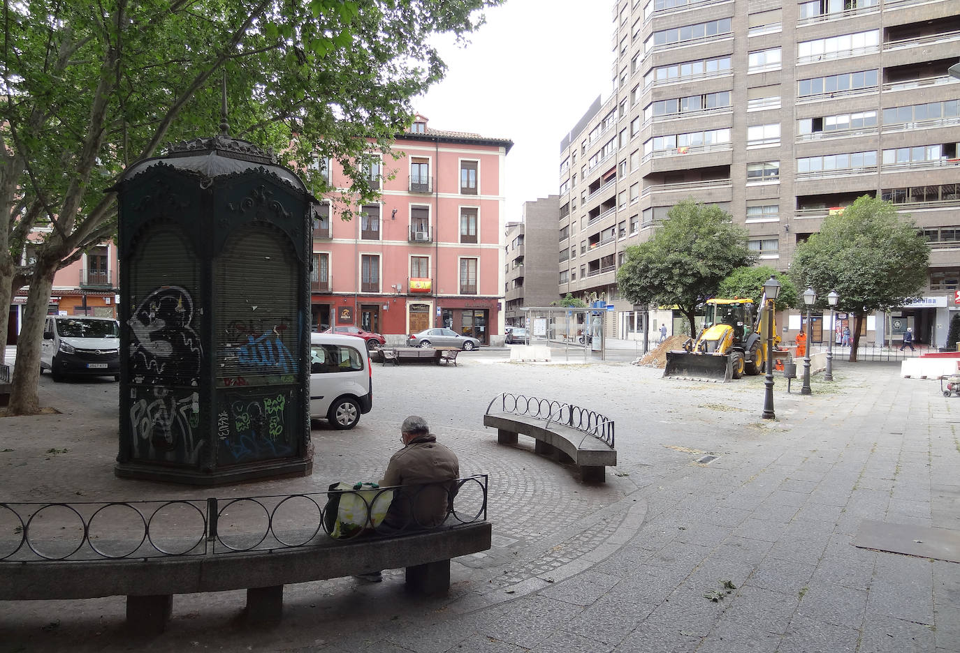
<instances>
[{"instance_id":1,"label":"large leafy tree with spreading branches overhanging the dark kiosk","mask_svg":"<svg viewBox=\"0 0 960 653\"><path fill-rule=\"evenodd\" d=\"M43 316L54 273L114 231L132 162L217 131L221 76L234 135L363 174L444 75L428 42L458 40L502 0L21 0L4 4L0 98L0 324L29 283L11 414L38 410ZM390 173L388 172L387 175ZM319 177L319 175L317 175ZM315 193L328 190L307 179ZM39 224L36 260L20 265ZM0 357L3 356L0 349ZM2 359L0 359L2 360Z\"/></svg>"}]
</instances>

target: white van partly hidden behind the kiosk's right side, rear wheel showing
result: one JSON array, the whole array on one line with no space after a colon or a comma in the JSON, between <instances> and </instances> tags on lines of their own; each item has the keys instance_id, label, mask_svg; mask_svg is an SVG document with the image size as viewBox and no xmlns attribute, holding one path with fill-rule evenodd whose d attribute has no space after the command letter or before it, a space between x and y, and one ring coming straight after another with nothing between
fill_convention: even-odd
<instances>
[{"instance_id":1,"label":"white van partly hidden behind the kiosk's right side, rear wheel showing","mask_svg":"<svg viewBox=\"0 0 960 653\"><path fill-rule=\"evenodd\" d=\"M373 408L373 371L361 338L310 334L310 417L352 429Z\"/></svg>"}]
</instances>

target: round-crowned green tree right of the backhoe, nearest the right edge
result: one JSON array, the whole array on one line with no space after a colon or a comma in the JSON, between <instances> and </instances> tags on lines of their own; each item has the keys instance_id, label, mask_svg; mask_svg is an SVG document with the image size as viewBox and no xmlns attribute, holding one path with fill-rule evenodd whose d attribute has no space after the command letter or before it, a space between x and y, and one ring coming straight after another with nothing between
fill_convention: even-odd
<instances>
[{"instance_id":1,"label":"round-crowned green tree right of the backhoe, nearest the right edge","mask_svg":"<svg viewBox=\"0 0 960 653\"><path fill-rule=\"evenodd\" d=\"M900 216L891 202L865 195L828 216L818 233L797 245L790 275L801 288L817 292L821 308L828 292L839 293L838 310L856 318L850 354L856 361L864 318L918 296L929 258L929 246L908 216Z\"/></svg>"}]
</instances>

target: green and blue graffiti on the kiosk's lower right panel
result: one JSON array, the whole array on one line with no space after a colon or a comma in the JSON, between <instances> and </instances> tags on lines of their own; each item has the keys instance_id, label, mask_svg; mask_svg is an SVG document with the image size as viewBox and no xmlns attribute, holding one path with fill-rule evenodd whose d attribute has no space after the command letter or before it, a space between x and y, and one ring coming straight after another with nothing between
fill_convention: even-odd
<instances>
[{"instance_id":1,"label":"green and blue graffiti on the kiosk's lower right panel","mask_svg":"<svg viewBox=\"0 0 960 653\"><path fill-rule=\"evenodd\" d=\"M259 398L229 400L228 410L221 410L217 434L224 462L247 462L294 454L286 429L287 394L271 393Z\"/></svg>"}]
</instances>

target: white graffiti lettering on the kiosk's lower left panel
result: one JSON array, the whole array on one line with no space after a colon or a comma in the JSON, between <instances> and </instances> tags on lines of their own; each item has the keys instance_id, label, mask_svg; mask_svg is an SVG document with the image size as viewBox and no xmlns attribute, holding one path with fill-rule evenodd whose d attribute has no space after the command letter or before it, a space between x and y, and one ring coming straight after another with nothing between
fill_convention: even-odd
<instances>
[{"instance_id":1,"label":"white graffiti lettering on the kiosk's lower left panel","mask_svg":"<svg viewBox=\"0 0 960 653\"><path fill-rule=\"evenodd\" d=\"M200 459L204 438L200 425L200 395L184 390L174 396L166 388L155 386L148 396L131 395L130 423L133 457L194 464Z\"/></svg>"}]
</instances>

